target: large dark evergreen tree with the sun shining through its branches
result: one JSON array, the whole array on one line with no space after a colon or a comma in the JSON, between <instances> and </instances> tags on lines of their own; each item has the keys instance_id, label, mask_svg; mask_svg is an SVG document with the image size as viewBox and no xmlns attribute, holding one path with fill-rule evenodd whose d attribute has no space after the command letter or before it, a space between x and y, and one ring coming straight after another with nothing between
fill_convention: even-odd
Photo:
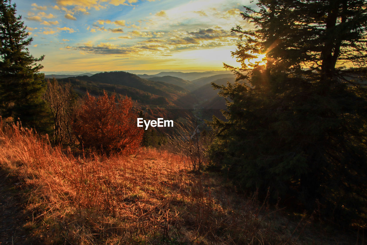
<instances>
[{"instance_id":1,"label":"large dark evergreen tree with the sun shining through its branches","mask_svg":"<svg viewBox=\"0 0 367 245\"><path fill-rule=\"evenodd\" d=\"M210 155L244 188L316 202L330 217L366 213L365 0L260 0L232 31L237 82ZM259 61L259 57L265 58ZM238 82L246 79L245 82ZM354 216L352 216L353 214Z\"/></svg>"}]
</instances>

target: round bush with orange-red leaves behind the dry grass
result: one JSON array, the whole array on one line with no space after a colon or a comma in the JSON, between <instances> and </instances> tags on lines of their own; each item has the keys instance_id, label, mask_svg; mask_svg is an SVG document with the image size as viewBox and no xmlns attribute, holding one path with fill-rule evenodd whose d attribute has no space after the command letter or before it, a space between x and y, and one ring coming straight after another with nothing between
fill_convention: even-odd
<instances>
[{"instance_id":1,"label":"round bush with orange-red leaves behind the dry grass","mask_svg":"<svg viewBox=\"0 0 367 245\"><path fill-rule=\"evenodd\" d=\"M113 94L94 97L87 93L83 103L75 111L73 130L80 143L106 151L135 152L143 137L137 127L137 114L129 97Z\"/></svg>"}]
</instances>

